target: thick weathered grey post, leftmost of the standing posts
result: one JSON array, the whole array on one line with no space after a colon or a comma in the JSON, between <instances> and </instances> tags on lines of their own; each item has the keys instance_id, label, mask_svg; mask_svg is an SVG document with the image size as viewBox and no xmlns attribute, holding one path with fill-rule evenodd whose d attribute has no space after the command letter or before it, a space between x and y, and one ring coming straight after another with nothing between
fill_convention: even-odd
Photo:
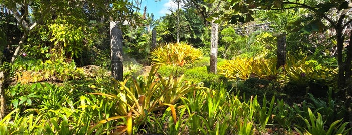
<instances>
[{"instance_id":1,"label":"thick weathered grey post, leftmost of the standing posts","mask_svg":"<svg viewBox=\"0 0 352 135\"><path fill-rule=\"evenodd\" d=\"M118 22L110 22L110 51L111 51L111 75L116 80L123 79L122 64L122 31L118 27Z\"/></svg>"}]
</instances>

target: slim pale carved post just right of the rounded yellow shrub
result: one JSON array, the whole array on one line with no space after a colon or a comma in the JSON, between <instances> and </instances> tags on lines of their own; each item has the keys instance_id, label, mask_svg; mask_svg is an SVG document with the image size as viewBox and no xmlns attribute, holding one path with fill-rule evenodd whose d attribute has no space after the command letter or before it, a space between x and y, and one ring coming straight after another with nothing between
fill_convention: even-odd
<instances>
[{"instance_id":1,"label":"slim pale carved post just right of the rounded yellow shrub","mask_svg":"<svg viewBox=\"0 0 352 135\"><path fill-rule=\"evenodd\" d=\"M210 48L210 72L217 74L217 57L218 57L218 24L212 23L212 36Z\"/></svg>"}]
</instances>

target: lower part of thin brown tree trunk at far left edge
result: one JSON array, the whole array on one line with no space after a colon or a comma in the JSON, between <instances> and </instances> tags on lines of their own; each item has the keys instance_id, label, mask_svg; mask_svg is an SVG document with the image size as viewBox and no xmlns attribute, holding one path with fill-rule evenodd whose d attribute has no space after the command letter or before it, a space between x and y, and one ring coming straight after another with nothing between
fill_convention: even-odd
<instances>
[{"instance_id":1,"label":"lower part of thin brown tree trunk at far left edge","mask_svg":"<svg viewBox=\"0 0 352 135\"><path fill-rule=\"evenodd\" d=\"M5 76L4 72L0 71L0 120L5 117L6 113L6 99L5 99Z\"/></svg>"}]
</instances>

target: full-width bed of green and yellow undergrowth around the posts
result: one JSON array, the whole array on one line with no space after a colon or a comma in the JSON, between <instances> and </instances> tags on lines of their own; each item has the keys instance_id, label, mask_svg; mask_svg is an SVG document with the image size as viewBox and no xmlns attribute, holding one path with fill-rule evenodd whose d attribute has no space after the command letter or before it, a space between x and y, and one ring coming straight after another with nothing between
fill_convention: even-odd
<instances>
[{"instance_id":1,"label":"full-width bed of green and yellow undergrowth around the posts","mask_svg":"<svg viewBox=\"0 0 352 135\"><path fill-rule=\"evenodd\" d=\"M171 51L172 52L172 51ZM157 52L155 52L157 53ZM175 55L177 56L177 55ZM304 57L127 61L122 82L99 66L20 58L0 134L347 134L334 66ZM183 57L184 58L184 57ZM196 60L200 59L200 60ZM27 62L25 62L27 61Z\"/></svg>"}]
</instances>

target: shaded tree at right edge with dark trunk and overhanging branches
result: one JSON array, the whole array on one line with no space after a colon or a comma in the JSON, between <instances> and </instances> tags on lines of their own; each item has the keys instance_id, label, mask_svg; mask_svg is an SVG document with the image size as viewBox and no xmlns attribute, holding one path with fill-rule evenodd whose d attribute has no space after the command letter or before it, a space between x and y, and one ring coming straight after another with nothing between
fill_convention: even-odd
<instances>
[{"instance_id":1,"label":"shaded tree at right edge with dark trunk and overhanging branches","mask_svg":"<svg viewBox=\"0 0 352 135\"><path fill-rule=\"evenodd\" d=\"M326 30L333 29L336 34L334 36L336 41L336 59L338 63L338 87L341 93L343 93L344 101L349 110L352 110L352 99L350 94L352 92L351 85L351 64L352 64L352 53L350 43L345 43L346 37L352 38L352 35L346 33L347 26L352 22L350 16L351 7L349 6L350 1L232 1L229 2L229 6L225 7L228 9L240 9L238 11L226 13L220 11L220 20L226 20L231 23L245 22L253 20L252 15L254 10L285 10L285 9L306 9L309 13L305 16L305 19L300 21L308 21L307 24L301 27L303 32L323 32ZM331 16L333 14L334 16ZM301 14L302 16L302 14ZM306 20L308 19L308 20ZM300 26L300 25L298 25ZM349 111L349 118L352 121L352 111Z\"/></svg>"}]
</instances>

